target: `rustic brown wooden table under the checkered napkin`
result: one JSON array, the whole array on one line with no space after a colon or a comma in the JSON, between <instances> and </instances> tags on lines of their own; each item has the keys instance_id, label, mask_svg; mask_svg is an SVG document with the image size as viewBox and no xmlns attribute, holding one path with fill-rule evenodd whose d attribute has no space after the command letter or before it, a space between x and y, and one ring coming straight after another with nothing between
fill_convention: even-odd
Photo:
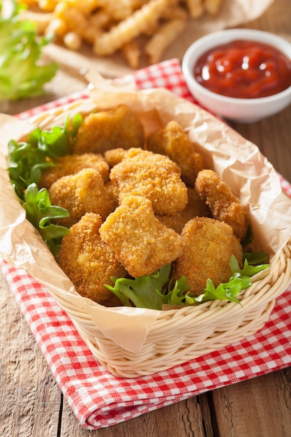
<instances>
[{"instance_id":1,"label":"rustic brown wooden table under the checkered napkin","mask_svg":"<svg viewBox=\"0 0 291 437\"><path fill-rule=\"evenodd\" d=\"M291 2L275 0L260 19L244 27L291 40ZM63 72L64 73L64 72ZM64 93L62 72L49 94L10 105L15 114ZM70 77L66 94L84 89ZM254 124L233 124L291 180L291 106ZM63 399L6 281L0 276L0 436L3 437L289 437L291 368L269 373L161 408L114 427L87 431Z\"/></svg>"}]
</instances>

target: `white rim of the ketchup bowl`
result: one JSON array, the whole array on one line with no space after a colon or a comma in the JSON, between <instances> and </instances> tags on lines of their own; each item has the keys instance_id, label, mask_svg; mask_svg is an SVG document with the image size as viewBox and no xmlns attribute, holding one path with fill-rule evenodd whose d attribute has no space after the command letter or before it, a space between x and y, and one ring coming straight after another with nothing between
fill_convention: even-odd
<instances>
[{"instance_id":1,"label":"white rim of the ketchup bowl","mask_svg":"<svg viewBox=\"0 0 291 437\"><path fill-rule=\"evenodd\" d=\"M223 40L217 41L217 38L222 38ZM267 40L266 40L267 38ZM237 97L229 97L223 96L223 94L214 93L214 91L209 91L209 89L203 87L201 84L195 80L193 76L192 69L200 55L209 50L211 47L217 47L223 43L230 42L232 40L241 39L241 40L257 40L258 42L264 42L266 44L272 45L276 49L280 50L285 56L289 57L291 60L291 43L278 36L276 34L271 34L271 32L261 31L258 29L223 29L219 31L211 32L210 34L204 35L201 38L192 43L186 52L184 53L184 57L181 62L181 68L185 77L186 82L190 82L193 87L196 87L197 90L204 93L205 96L209 98L216 98L216 101L220 101L221 103L239 103L239 105L246 106L252 103L253 105L261 105L262 103L273 103L276 101L280 101L281 98L285 96L291 96L291 85L290 87L280 91L279 93L272 94L271 96L265 97L257 97L257 98L237 98ZM214 41L212 45L211 42ZM216 42L217 41L217 42ZM207 44L209 43L209 45ZM204 48L204 45L207 45ZM283 47L282 47L283 46ZM199 50L200 49L200 50ZM201 50L202 49L202 50ZM195 56L194 52L197 50L197 55ZM192 94L192 91L189 90Z\"/></svg>"}]
</instances>

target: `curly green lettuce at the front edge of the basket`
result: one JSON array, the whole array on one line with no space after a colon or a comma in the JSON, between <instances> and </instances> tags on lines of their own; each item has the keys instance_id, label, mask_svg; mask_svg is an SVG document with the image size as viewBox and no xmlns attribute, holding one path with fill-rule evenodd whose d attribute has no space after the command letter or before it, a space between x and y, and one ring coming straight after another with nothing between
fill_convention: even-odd
<instances>
[{"instance_id":1,"label":"curly green lettuce at the front edge of the basket","mask_svg":"<svg viewBox=\"0 0 291 437\"><path fill-rule=\"evenodd\" d=\"M267 269L269 264L253 266L244 260L244 267L239 268L237 258L230 258L232 276L227 283L214 287L211 279L207 280L206 288L199 296L188 290L185 276L174 282L170 279L171 265L168 264L154 274L140 276L134 279L110 279L114 287L105 285L114 295L119 297L124 306L137 308L163 309L163 305L195 305L209 300L221 299L240 304L238 295L242 290L251 287L251 276Z\"/></svg>"}]
</instances>

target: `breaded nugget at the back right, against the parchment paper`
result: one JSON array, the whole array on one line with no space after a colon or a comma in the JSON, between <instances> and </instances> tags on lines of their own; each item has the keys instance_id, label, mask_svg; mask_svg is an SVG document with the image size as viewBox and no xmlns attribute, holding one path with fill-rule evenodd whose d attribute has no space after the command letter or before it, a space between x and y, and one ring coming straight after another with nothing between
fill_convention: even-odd
<instances>
[{"instance_id":1,"label":"breaded nugget at the back right, against the parchment paper","mask_svg":"<svg viewBox=\"0 0 291 437\"><path fill-rule=\"evenodd\" d=\"M151 133L147 138L147 149L169 156L181 168L181 179L193 187L203 168L202 156L195 151L184 129L177 121L169 121L165 128Z\"/></svg>"}]
</instances>

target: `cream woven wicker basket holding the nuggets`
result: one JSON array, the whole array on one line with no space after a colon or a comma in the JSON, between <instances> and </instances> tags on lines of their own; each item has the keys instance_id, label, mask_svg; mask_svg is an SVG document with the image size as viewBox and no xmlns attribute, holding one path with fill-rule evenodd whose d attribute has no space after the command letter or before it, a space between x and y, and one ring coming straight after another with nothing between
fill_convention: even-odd
<instances>
[{"instance_id":1,"label":"cream woven wicker basket holding the nuggets","mask_svg":"<svg viewBox=\"0 0 291 437\"><path fill-rule=\"evenodd\" d=\"M165 101L167 98L175 99L165 94ZM177 100L178 103L185 105L181 99L177 98ZM187 103L187 105L192 104ZM94 105L92 106L89 101L74 102L63 108L39 114L30 122L33 126L44 128L64 121L68 112L88 112L93 107ZM183 114L181 117L183 118ZM202 119L203 117L207 117L209 124L221 123L210 114L205 115L204 112L202 112ZM232 131L230 134L237 135ZM274 173L272 172L272 175ZM286 198L286 202L291 210L289 199ZM47 249L43 247L43 254L46 251ZM278 252L274 253L271 267L256 275L251 288L241 293L239 297L241 305L216 300L199 306L183 306L179 309L156 311L156 319L147 332L140 350L136 352L120 346L117 341L104 334L87 311L88 299L77 295L73 288L68 286L70 281L65 286L60 285L60 281L57 284L58 279L54 284L50 284L50 279L47 279L48 275L43 279L40 271L35 274L35 271L29 269L29 262L23 262L20 266L13 260L13 255L5 253L2 255L17 267L24 267L38 281L44 283L73 320L77 331L89 346L96 360L114 375L126 378L135 378L169 369L254 334L269 319L276 297L291 283L291 240L287 239ZM53 262L52 259L52 265ZM53 265L52 268L57 272L57 266ZM135 309L132 311L134 314ZM141 323L138 317L135 323L137 325ZM130 333L125 332L124 335L130 335Z\"/></svg>"}]
</instances>

